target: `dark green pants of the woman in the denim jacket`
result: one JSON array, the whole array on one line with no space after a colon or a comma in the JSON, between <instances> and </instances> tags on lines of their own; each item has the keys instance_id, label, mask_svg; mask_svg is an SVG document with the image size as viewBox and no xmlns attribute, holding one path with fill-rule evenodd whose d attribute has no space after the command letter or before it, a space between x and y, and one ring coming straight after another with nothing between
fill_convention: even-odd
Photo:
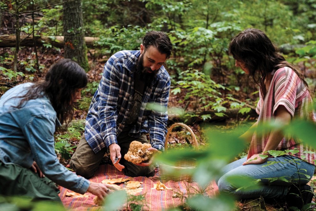
<instances>
[{"instance_id":1,"label":"dark green pants of the woman in the denim jacket","mask_svg":"<svg viewBox=\"0 0 316 211\"><path fill-rule=\"evenodd\" d=\"M4 164L0 161L0 195L21 196L32 201L57 201L60 192L47 177L40 178L38 174L17 164Z\"/></svg>"}]
</instances>

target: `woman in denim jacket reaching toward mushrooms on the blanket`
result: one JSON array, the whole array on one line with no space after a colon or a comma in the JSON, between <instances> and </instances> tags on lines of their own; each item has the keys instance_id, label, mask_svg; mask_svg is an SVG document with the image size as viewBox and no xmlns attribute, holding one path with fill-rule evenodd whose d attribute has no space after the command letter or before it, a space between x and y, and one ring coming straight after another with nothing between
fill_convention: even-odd
<instances>
[{"instance_id":1,"label":"woman in denim jacket reaching toward mushrooms on the blanket","mask_svg":"<svg viewBox=\"0 0 316 211\"><path fill-rule=\"evenodd\" d=\"M59 201L54 183L103 199L111 185L90 182L68 171L54 151L54 132L67 126L74 103L87 85L85 71L61 59L40 83L25 83L0 98L0 195L26 196L33 201Z\"/></svg>"}]
</instances>

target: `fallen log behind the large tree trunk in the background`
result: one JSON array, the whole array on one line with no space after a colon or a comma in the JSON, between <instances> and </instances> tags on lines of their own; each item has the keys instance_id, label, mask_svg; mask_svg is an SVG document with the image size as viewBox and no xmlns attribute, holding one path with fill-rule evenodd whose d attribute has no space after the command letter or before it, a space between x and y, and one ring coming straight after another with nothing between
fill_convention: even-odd
<instances>
[{"instance_id":1,"label":"fallen log behind the large tree trunk in the background","mask_svg":"<svg viewBox=\"0 0 316 211\"><path fill-rule=\"evenodd\" d=\"M21 35L20 46L33 47L33 36ZM0 47L15 47L15 35L0 35ZM86 45L88 47L93 47L93 43L99 40L98 37L85 37ZM51 44L54 47L64 47L64 36L36 36L35 37L36 46L42 46L44 43Z\"/></svg>"}]
</instances>

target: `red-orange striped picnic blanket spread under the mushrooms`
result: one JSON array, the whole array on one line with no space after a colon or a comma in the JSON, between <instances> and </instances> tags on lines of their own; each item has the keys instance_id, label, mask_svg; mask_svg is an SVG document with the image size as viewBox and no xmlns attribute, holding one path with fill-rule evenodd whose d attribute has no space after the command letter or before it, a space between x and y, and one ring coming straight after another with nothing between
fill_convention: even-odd
<instances>
[{"instance_id":1,"label":"red-orange striped picnic blanket spread under the mushrooms","mask_svg":"<svg viewBox=\"0 0 316 211\"><path fill-rule=\"evenodd\" d=\"M164 181L164 184L168 188L173 188L173 190L163 190L158 191L152 189L154 184L157 183L160 179L159 169L156 169L156 174L154 177L131 177L133 181L139 181L142 183L143 191L139 194L145 194L146 204L144 207L145 210L159 211L165 210L167 208L177 207L183 204L183 200L186 196L197 193L198 185L195 182L188 183L185 181ZM98 171L95 173L94 177L90 179L93 182L101 182L104 179L113 179L113 178L130 178L125 176L123 172L118 171L112 165L100 165ZM120 186L123 188L124 183L121 183ZM59 187L60 195L64 206L73 210L97 210L99 207L94 204L94 195L86 193L88 197L68 197L66 192L71 192L70 190ZM212 182L209 187L206 189L205 193L208 196L214 196L218 193L218 188L215 182ZM181 197L184 195L185 197Z\"/></svg>"}]
</instances>

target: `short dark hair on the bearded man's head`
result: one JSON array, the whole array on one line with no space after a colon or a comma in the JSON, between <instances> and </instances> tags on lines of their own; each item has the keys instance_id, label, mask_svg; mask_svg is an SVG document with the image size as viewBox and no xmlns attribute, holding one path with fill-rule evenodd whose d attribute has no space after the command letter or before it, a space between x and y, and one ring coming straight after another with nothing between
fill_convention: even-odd
<instances>
[{"instance_id":1,"label":"short dark hair on the bearded man's head","mask_svg":"<svg viewBox=\"0 0 316 211\"><path fill-rule=\"evenodd\" d=\"M167 59L170 57L173 46L168 35L161 31L147 32L143 39L145 50L149 46L154 46L161 54L167 54Z\"/></svg>"}]
</instances>

